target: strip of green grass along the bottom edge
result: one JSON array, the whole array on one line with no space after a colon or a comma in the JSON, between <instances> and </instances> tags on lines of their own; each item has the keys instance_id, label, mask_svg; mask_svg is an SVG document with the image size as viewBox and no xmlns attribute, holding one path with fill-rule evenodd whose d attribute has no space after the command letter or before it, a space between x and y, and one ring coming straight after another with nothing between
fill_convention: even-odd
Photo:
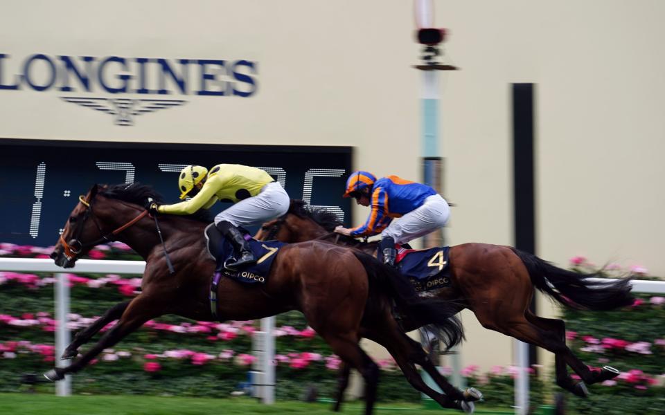
<instances>
[{"instance_id":1,"label":"strip of green grass along the bottom edge","mask_svg":"<svg viewBox=\"0 0 665 415\"><path fill-rule=\"evenodd\" d=\"M0 414L16 415L332 415L330 403L278 402L262 405L251 398L180 398L176 396L98 395L60 397L46 394L0 394ZM362 414L360 402L342 408L344 414ZM423 410L419 405L378 405L377 414L444 415L461 412ZM415 412L414 409L420 409Z\"/></svg>"}]
</instances>

